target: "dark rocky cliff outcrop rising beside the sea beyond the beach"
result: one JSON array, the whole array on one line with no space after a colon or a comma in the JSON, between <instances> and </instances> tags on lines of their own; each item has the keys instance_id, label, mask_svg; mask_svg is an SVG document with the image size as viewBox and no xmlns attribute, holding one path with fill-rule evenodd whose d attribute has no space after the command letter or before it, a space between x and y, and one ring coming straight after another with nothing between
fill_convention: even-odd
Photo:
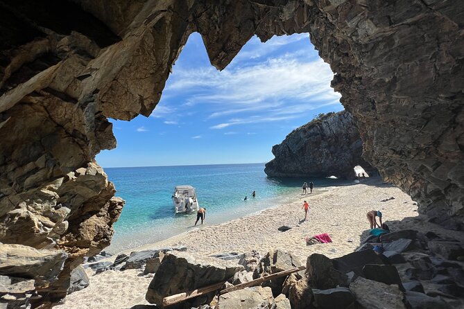
<instances>
[{"instance_id":1,"label":"dark rocky cliff outcrop rising beside the sea beyond the beach","mask_svg":"<svg viewBox=\"0 0 464 309\"><path fill-rule=\"evenodd\" d=\"M298 127L273 146L275 159L264 172L271 177L329 177L352 179L354 166L372 167L361 157L363 141L347 112L327 114Z\"/></svg>"}]
</instances>

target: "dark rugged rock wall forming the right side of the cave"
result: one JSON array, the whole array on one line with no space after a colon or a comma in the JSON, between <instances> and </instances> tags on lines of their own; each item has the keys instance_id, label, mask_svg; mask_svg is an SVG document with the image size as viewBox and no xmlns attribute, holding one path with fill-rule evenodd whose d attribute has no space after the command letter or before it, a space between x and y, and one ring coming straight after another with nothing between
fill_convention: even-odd
<instances>
[{"instance_id":1,"label":"dark rugged rock wall forming the right side of the cave","mask_svg":"<svg viewBox=\"0 0 464 309\"><path fill-rule=\"evenodd\" d=\"M336 73L364 157L452 229L464 219L464 3L314 1L311 41Z\"/></svg>"}]
</instances>

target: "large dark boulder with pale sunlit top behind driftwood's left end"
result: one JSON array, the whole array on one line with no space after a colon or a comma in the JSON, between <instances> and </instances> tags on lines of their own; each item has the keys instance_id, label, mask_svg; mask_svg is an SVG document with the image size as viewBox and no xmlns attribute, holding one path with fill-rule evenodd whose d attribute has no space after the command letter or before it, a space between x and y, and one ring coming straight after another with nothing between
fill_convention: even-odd
<instances>
[{"instance_id":1,"label":"large dark boulder with pale sunlit top behind driftwood's left end","mask_svg":"<svg viewBox=\"0 0 464 309\"><path fill-rule=\"evenodd\" d=\"M243 266L233 261L198 258L187 252L169 251L148 286L146 300L162 306L162 299L166 296L226 281L241 270ZM213 296L208 294L192 299L191 306L207 303Z\"/></svg>"}]
</instances>

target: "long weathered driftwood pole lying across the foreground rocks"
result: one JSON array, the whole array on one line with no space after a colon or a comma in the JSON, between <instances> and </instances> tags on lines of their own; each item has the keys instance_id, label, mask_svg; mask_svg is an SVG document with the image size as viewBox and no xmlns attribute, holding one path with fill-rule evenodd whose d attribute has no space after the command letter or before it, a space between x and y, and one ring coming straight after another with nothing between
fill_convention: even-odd
<instances>
[{"instance_id":1,"label":"long weathered driftwood pole lying across the foreground rocks","mask_svg":"<svg viewBox=\"0 0 464 309\"><path fill-rule=\"evenodd\" d=\"M235 286L233 286L231 288L221 290L221 292L219 292L219 294L225 294L225 293L241 290L243 288L248 288L250 286L259 285L260 283L263 283L265 281L269 281L269 280L279 278L279 277L282 277L282 276L287 276L289 274L293 274L293 272L300 272L300 270L304 270L304 269L306 269L305 266L300 266L300 267L292 268L291 270L284 270L283 272L276 272L275 274L269 274L267 276L264 276L264 277L261 277L261 278L255 279L255 280L248 281L248 282L245 282L245 283L240 283L240 284L235 285ZM174 295L171 295L171 296L168 296L168 297L164 297L164 299L162 301L162 305L163 305L163 307L167 307L167 306L174 305L175 303L181 303L182 301L186 301L187 299L191 299L191 298L203 295L203 294L214 292L214 291L219 290L220 288L222 288L225 282L226 281L222 281L222 282L219 282L219 283L214 283L212 285L208 285L205 288L199 288L197 290L193 290L193 291L190 291L190 292L183 292L183 293L174 294Z\"/></svg>"}]
</instances>

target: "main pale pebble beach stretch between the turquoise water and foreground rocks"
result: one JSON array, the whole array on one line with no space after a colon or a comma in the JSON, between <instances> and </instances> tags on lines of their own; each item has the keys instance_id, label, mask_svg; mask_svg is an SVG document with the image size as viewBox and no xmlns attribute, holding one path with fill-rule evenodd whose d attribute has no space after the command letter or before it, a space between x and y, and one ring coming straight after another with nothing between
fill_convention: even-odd
<instances>
[{"instance_id":1,"label":"main pale pebble beach stretch between the turquoise water and foreground rocks","mask_svg":"<svg viewBox=\"0 0 464 309\"><path fill-rule=\"evenodd\" d=\"M372 195L370 199L371 206L364 206L365 201L363 198L357 202L353 200L352 205L347 204L351 191L359 191L359 189L361 191L377 191L377 188L384 191L384 195ZM360 192L360 194L362 193ZM395 200L381 202L382 199L391 196L396 196ZM309 202L310 207L306 222L302 222L304 211L301 208L304 200ZM209 256L233 251L251 251L252 249L264 254L270 249L279 248L284 251L293 251L293 254L300 258L302 262L306 261L307 256L316 252L325 254L329 258L335 258L348 254L359 246L361 238L363 238L363 232L367 231L369 227L366 219L368 211L372 209L381 210L384 213L385 222L388 220L389 215L389 207L387 206L395 204L398 207L399 204L401 206L409 204L408 211L403 207L401 209L404 216L398 214L397 209L394 210L395 214L393 216L390 215L390 220L393 218L401 220L405 216L418 215L417 206L413 205L413 203L411 197L400 191L399 188L385 184L380 177L372 177L358 184L332 186L329 190L314 195L300 194L290 202L263 209L256 214L235 218L220 224L191 229L165 240L141 245L120 253L130 254L132 251L159 249L162 247L187 247L187 251ZM338 209L338 207L341 207L341 209ZM337 218L348 209L350 209L352 217ZM332 222L329 219L330 217L337 218L337 221ZM354 237L353 233L344 231L343 224L346 224L350 229L354 227L359 231L357 238ZM292 229L280 232L277 228L282 225L287 225ZM332 240L338 242L338 248L325 244L307 246L304 238L319 233L329 233ZM347 234L347 237L343 239L345 234Z\"/></svg>"}]
</instances>

